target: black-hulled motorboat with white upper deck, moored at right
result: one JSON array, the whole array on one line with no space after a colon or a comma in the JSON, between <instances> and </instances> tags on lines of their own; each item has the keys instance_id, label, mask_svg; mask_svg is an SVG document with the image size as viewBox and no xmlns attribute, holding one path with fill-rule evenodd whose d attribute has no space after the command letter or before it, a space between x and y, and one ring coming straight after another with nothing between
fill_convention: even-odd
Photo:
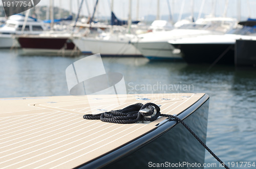
<instances>
[{"instance_id":1,"label":"black-hulled motorboat with white upper deck, moored at right","mask_svg":"<svg viewBox=\"0 0 256 169\"><path fill-rule=\"evenodd\" d=\"M246 23L240 22L243 25ZM236 40L256 39L255 30L251 26L240 25L239 28L230 30L225 35L202 35L169 40L168 43L171 47L181 50L182 57L187 63L234 64Z\"/></svg>"}]
</instances>

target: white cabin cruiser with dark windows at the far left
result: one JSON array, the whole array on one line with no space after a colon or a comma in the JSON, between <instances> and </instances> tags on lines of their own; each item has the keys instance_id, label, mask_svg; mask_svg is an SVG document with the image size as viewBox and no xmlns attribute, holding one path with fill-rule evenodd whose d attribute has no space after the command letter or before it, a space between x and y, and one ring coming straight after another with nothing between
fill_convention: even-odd
<instances>
[{"instance_id":1,"label":"white cabin cruiser with dark windows at the far left","mask_svg":"<svg viewBox=\"0 0 256 169\"><path fill-rule=\"evenodd\" d=\"M19 47L14 35L20 34L40 34L46 30L44 22L35 18L28 17L27 23L22 31L25 21L24 15L12 15L6 21L6 24L0 28L0 48Z\"/></svg>"}]
</instances>

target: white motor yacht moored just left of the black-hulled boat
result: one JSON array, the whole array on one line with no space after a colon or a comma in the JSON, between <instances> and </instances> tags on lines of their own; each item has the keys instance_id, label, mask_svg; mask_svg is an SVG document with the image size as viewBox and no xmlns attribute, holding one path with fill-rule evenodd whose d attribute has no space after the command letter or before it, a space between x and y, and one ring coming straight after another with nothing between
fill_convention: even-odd
<instances>
[{"instance_id":1,"label":"white motor yacht moored just left of the black-hulled boat","mask_svg":"<svg viewBox=\"0 0 256 169\"><path fill-rule=\"evenodd\" d=\"M183 24L179 29L138 35L132 43L150 60L182 60L180 50L169 45L168 40L209 34L223 35L236 24L236 19L232 18L199 19L195 23Z\"/></svg>"}]
</instances>

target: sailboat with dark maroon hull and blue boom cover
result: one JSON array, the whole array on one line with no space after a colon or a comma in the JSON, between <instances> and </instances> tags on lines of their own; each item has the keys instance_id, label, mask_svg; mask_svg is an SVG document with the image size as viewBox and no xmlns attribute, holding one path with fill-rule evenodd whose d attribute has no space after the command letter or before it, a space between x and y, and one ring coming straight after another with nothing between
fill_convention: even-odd
<instances>
[{"instance_id":1,"label":"sailboat with dark maroon hull and blue boom cover","mask_svg":"<svg viewBox=\"0 0 256 169\"><path fill-rule=\"evenodd\" d=\"M53 1L50 1L51 19L45 22L51 24L51 29L54 22L71 21L69 16L63 19L54 19L53 17ZM63 31L48 31L42 32L39 35L20 35L16 36L20 47L23 49L23 54L33 55L77 55L77 50L74 43L70 40L72 32L69 30Z\"/></svg>"}]
</instances>

